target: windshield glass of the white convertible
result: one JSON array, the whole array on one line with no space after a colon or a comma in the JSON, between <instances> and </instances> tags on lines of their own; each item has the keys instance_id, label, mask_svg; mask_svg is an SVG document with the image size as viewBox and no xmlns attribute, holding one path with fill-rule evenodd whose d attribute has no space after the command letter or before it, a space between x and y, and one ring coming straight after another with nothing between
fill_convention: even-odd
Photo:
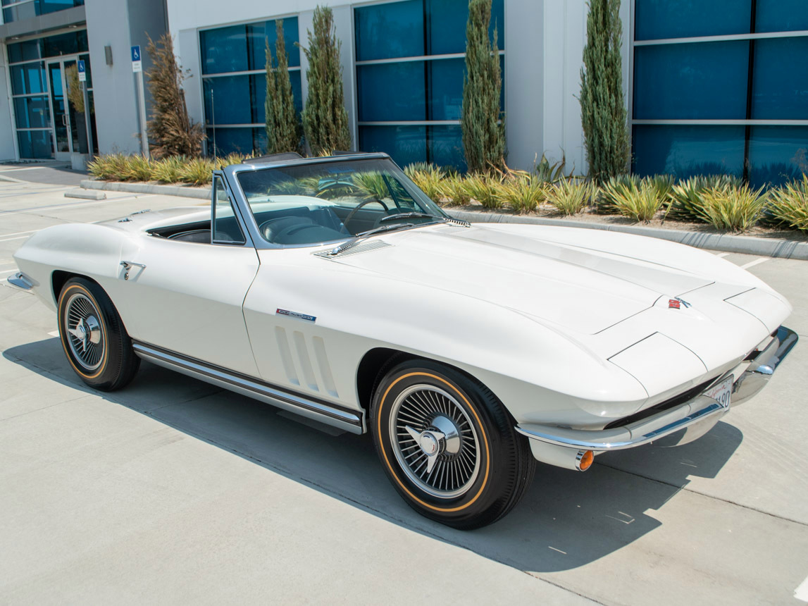
<instances>
[{"instance_id":1,"label":"windshield glass of the white convertible","mask_svg":"<svg viewBox=\"0 0 808 606\"><path fill-rule=\"evenodd\" d=\"M245 170L237 178L259 233L272 244L336 242L446 218L387 159Z\"/></svg>"}]
</instances>

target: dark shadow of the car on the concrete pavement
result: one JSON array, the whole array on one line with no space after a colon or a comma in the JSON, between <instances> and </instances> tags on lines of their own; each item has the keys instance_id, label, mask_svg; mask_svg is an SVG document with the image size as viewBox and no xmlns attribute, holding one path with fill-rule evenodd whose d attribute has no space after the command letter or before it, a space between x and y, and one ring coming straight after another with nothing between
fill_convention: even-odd
<instances>
[{"instance_id":1,"label":"dark shadow of the car on the concrete pavement","mask_svg":"<svg viewBox=\"0 0 808 606\"><path fill-rule=\"evenodd\" d=\"M69 368L58 339L12 347L3 356L91 392ZM394 524L532 572L583 566L653 532L662 524L653 511L674 499L689 477L714 478L743 440L738 429L719 423L701 440L679 448L645 446L598 457L587 473L540 464L531 489L510 515L462 532L406 506L385 477L368 435L339 433L147 363L127 388L91 393Z\"/></svg>"}]
</instances>

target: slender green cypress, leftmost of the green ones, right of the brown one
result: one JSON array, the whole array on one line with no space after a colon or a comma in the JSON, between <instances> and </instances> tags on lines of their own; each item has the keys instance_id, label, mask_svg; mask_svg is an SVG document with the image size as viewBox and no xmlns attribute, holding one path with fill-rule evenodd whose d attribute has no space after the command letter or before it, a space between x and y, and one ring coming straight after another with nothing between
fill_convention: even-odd
<instances>
[{"instance_id":1,"label":"slender green cypress, leftmost of the green ones, right of the brown one","mask_svg":"<svg viewBox=\"0 0 808 606\"><path fill-rule=\"evenodd\" d=\"M292 82L289 80L289 61L284 41L284 22L275 22L275 55L277 64L267 40L267 100L264 108L267 113L267 154L297 151L300 148L300 124L297 121L295 99L292 95Z\"/></svg>"}]
</instances>

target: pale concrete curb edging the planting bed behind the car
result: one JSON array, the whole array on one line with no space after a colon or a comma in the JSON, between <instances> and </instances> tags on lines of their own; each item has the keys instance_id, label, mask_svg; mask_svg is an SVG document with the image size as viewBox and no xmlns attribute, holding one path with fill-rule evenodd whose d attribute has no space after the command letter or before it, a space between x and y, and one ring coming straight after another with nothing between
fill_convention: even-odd
<instances>
[{"instance_id":1,"label":"pale concrete curb edging the planting bed behind the car","mask_svg":"<svg viewBox=\"0 0 808 606\"><path fill-rule=\"evenodd\" d=\"M159 183L120 183L86 179L81 187L85 189L103 189L107 191L129 191L137 194L155 194L158 196L182 196L210 200L210 187L190 187L183 185L161 185ZM696 248L718 250L721 252L740 253L742 255L758 255L780 259L799 259L808 261L808 242L782 240L780 238L755 238L754 236L733 236L729 234L703 234L680 229L659 229L642 227L642 225L608 225L605 223L586 223L566 219L545 219L543 217L520 217L499 213L472 213L464 210L445 209L451 217L471 223L521 223L527 225L555 225L556 227L575 227L578 229L604 229L623 234L635 234L679 242Z\"/></svg>"}]
</instances>

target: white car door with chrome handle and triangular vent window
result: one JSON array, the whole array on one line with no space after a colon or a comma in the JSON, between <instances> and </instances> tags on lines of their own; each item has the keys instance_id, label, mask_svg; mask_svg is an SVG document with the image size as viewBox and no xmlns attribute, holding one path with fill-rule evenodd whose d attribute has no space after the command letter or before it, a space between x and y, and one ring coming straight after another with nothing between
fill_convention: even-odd
<instances>
[{"instance_id":1,"label":"white car door with chrome handle and triangular vent window","mask_svg":"<svg viewBox=\"0 0 808 606\"><path fill-rule=\"evenodd\" d=\"M221 175L212 189L211 242L144 234L124 248L127 328L137 341L255 377L242 303L259 258Z\"/></svg>"}]
</instances>

